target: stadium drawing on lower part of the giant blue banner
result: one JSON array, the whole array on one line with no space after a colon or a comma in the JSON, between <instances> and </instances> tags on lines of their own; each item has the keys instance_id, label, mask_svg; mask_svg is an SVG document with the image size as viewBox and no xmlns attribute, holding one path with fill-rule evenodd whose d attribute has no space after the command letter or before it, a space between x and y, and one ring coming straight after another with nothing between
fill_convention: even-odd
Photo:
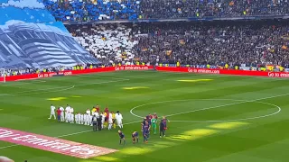
<instances>
[{"instance_id":1,"label":"stadium drawing on lower part of the giant blue banner","mask_svg":"<svg viewBox=\"0 0 289 162\"><path fill-rule=\"evenodd\" d=\"M60 22L0 25L0 67L72 67L98 63Z\"/></svg>"}]
</instances>

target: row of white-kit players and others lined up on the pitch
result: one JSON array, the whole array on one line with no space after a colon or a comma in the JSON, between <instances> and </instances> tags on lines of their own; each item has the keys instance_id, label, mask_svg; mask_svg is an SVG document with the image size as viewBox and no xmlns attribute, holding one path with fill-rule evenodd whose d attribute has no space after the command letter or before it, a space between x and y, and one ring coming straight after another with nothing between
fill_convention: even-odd
<instances>
[{"instance_id":1,"label":"row of white-kit players and others lined up on the pitch","mask_svg":"<svg viewBox=\"0 0 289 162\"><path fill-rule=\"evenodd\" d=\"M51 115L48 119L51 119L51 117L54 117L54 120L56 120L55 116L55 106L51 104ZM123 116L120 112L109 112L108 107L105 108L104 112L100 112L99 105L96 107L93 107L90 111L89 109L85 113L76 113L74 114L74 109L69 104L67 104L66 108L59 107L57 110L57 119L59 122L69 122L69 123L77 123L77 124L83 124L83 125L89 125L93 126L95 121L98 121L98 130L108 128L108 130L111 130L112 128L118 127L122 129L123 123ZM117 122L117 125L116 125ZM101 127L100 127L101 124ZM96 130L96 129L95 129Z\"/></svg>"}]
</instances>

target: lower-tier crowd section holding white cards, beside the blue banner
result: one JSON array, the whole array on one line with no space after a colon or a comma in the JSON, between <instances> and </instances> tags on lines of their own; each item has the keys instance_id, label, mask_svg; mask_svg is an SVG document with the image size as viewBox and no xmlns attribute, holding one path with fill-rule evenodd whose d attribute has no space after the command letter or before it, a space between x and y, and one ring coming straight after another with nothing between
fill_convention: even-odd
<instances>
[{"instance_id":1,"label":"lower-tier crowd section holding white cards, beside the blue banner","mask_svg":"<svg viewBox=\"0 0 289 162\"><path fill-rule=\"evenodd\" d=\"M70 26L70 32L101 62L112 64L135 57L132 27L123 24Z\"/></svg>"}]
</instances>

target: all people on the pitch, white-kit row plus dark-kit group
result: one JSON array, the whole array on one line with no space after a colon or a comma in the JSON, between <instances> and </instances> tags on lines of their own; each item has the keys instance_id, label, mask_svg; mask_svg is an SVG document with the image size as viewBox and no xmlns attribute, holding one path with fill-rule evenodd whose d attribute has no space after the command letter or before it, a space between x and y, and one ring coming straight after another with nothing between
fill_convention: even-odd
<instances>
[{"instance_id":1,"label":"all people on the pitch, white-kit row plus dark-kit group","mask_svg":"<svg viewBox=\"0 0 289 162\"><path fill-rule=\"evenodd\" d=\"M97 105L96 107L93 107L92 110L87 110L85 113L76 113L74 114L74 109L69 104L67 104L66 108L64 109L62 106L60 106L56 111L56 107L51 104L51 115L50 118L53 116L54 120L56 120L55 112L57 112L57 119L59 122L69 122L69 123L77 123L77 124L84 124L93 126L93 130L103 130L104 128L108 128L108 130L111 130L112 127L116 129L117 125L120 129L123 128L123 116L122 114L117 111L115 112L109 112L108 108L106 107L104 112L100 112L100 108ZM154 134L156 134L157 131L157 121L158 116L154 112L154 114L148 114L144 117L144 121L141 123L141 131L143 134L144 142L147 143L148 139L150 138L150 132L151 130L154 131ZM163 118L160 120L160 138L165 136L165 131L167 130L167 118L163 116ZM116 125L117 122L117 125ZM125 134L118 130L118 135L120 138L119 144L124 141L124 144L126 144ZM134 131L132 133L132 139L133 143L138 142L138 132Z\"/></svg>"}]
</instances>

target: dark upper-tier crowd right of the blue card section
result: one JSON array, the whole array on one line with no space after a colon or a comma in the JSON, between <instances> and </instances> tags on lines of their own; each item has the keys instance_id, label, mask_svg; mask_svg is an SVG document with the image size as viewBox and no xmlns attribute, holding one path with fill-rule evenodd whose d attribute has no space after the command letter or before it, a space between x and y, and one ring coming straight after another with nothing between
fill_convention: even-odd
<instances>
[{"instance_id":1,"label":"dark upper-tier crowd right of the blue card section","mask_svg":"<svg viewBox=\"0 0 289 162\"><path fill-rule=\"evenodd\" d=\"M141 9L147 19L288 14L289 11L284 0L153 0L142 1Z\"/></svg>"}]
</instances>

